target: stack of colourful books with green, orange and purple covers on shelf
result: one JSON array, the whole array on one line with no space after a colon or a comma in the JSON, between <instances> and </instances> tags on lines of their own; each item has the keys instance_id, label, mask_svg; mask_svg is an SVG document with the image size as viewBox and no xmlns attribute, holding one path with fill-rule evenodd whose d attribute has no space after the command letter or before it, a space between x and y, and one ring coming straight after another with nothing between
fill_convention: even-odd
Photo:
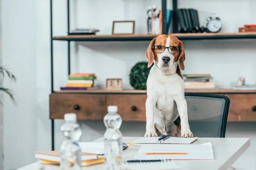
<instances>
[{"instance_id":1,"label":"stack of colourful books with green, orange and purple covers on shelf","mask_svg":"<svg viewBox=\"0 0 256 170\"><path fill-rule=\"evenodd\" d=\"M94 86L95 74L70 74L68 82L65 87L61 87L61 90L88 90Z\"/></svg>"}]
</instances>

